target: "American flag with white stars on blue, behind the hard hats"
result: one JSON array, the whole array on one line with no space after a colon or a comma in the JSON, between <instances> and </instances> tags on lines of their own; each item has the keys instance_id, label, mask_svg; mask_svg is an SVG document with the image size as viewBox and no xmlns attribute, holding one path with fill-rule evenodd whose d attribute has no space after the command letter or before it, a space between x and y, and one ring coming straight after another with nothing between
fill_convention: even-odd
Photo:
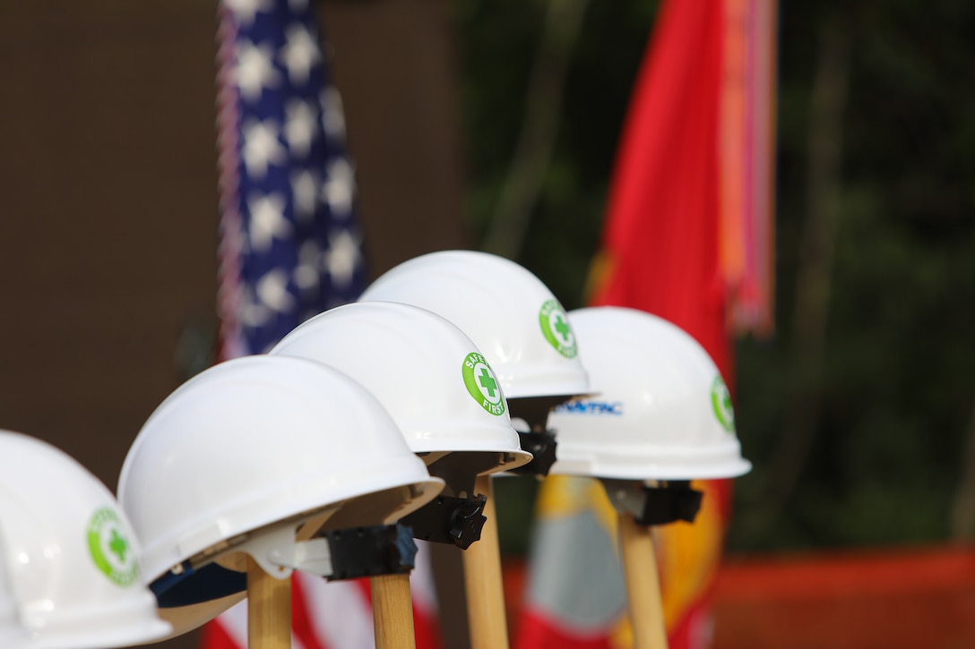
<instances>
[{"instance_id":1,"label":"American flag with white stars on blue, behind the hard hats","mask_svg":"<svg viewBox=\"0 0 975 649\"><path fill-rule=\"evenodd\" d=\"M294 326L365 286L353 168L307 0L221 0L217 105L220 360L266 352ZM436 647L427 554L410 577L418 649ZM369 585L295 573L292 646L370 649ZM243 604L243 603L242 603ZM203 649L244 649L238 605Z\"/></svg>"}]
</instances>

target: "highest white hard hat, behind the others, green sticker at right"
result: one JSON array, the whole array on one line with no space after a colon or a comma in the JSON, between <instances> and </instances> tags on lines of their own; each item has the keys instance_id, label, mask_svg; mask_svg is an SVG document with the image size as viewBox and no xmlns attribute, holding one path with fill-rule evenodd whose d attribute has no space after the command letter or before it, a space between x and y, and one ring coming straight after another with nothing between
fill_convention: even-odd
<instances>
[{"instance_id":1,"label":"highest white hard hat, behind the others, green sticker at right","mask_svg":"<svg viewBox=\"0 0 975 649\"><path fill-rule=\"evenodd\" d=\"M487 358L510 400L589 392L565 311L519 264L487 252L444 250L406 261L360 301L423 307L459 326Z\"/></svg>"}]
</instances>

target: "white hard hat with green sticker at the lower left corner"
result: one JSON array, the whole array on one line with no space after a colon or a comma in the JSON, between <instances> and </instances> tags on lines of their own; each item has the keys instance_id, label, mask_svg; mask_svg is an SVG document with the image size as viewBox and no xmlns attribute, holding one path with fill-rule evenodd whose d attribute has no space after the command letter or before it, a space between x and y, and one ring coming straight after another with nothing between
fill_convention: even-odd
<instances>
[{"instance_id":1,"label":"white hard hat with green sticker at the lower left corner","mask_svg":"<svg viewBox=\"0 0 975 649\"><path fill-rule=\"evenodd\" d=\"M169 632L111 492L58 448L9 431L0 431L0 539L0 572L33 649L120 647Z\"/></svg>"}]
</instances>

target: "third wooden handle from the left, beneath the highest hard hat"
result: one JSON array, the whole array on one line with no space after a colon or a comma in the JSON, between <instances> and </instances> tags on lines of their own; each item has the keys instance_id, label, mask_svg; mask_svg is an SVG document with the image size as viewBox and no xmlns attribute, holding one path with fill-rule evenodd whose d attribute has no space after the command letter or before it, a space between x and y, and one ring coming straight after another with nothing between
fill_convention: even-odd
<instances>
[{"instance_id":1,"label":"third wooden handle from the left, beneath the highest hard hat","mask_svg":"<svg viewBox=\"0 0 975 649\"><path fill-rule=\"evenodd\" d=\"M471 649L508 649L508 625L501 582L501 551L490 476L478 476L475 493L487 496L481 540L463 551L464 590Z\"/></svg>"}]
</instances>

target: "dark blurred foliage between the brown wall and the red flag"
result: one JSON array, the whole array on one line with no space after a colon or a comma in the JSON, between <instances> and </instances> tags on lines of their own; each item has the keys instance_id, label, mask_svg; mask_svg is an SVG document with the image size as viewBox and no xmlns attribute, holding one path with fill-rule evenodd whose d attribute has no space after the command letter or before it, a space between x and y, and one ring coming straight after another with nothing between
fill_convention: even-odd
<instances>
[{"instance_id":1,"label":"dark blurred foliage between the brown wall and the red flag","mask_svg":"<svg viewBox=\"0 0 975 649\"><path fill-rule=\"evenodd\" d=\"M545 6L539 0L459 5L475 235L487 230L519 136ZM518 259L568 309L582 304L616 139L655 13L655 2L589 3L571 52L555 154Z\"/></svg>"}]
</instances>

